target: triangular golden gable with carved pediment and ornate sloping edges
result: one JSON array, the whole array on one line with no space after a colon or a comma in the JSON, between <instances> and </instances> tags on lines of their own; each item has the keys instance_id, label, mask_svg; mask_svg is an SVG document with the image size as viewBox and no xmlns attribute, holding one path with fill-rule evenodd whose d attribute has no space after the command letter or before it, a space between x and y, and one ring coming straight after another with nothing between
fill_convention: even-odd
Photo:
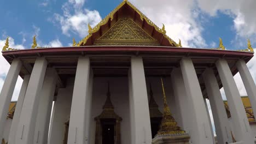
<instances>
[{"instance_id":1,"label":"triangular golden gable with carved pediment and ornate sloping edges","mask_svg":"<svg viewBox=\"0 0 256 144\"><path fill-rule=\"evenodd\" d=\"M156 26L127 0L118 5L76 46L154 45L182 47L166 35L165 26ZM75 44L74 44L75 46Z\"/></svg>"}]
</instances>

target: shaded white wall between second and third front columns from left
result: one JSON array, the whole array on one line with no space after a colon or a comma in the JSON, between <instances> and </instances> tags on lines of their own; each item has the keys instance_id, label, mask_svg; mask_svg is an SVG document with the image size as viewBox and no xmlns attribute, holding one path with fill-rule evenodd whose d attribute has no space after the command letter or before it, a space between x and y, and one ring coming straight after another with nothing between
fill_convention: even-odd
<instances>
[{"instance_id":1,"label":"shaded white wall between second and third front columns from left","mask_svg":"<svg viewBox=\"0 0 256 144\"><path fill-rule=\"evenodd\" d=\"M51 119L50 144L62 144L65 135L65 122L68 121L71 111L74 78L67 81L66 88L60 88Z\"/></svg>"}]
</instances>

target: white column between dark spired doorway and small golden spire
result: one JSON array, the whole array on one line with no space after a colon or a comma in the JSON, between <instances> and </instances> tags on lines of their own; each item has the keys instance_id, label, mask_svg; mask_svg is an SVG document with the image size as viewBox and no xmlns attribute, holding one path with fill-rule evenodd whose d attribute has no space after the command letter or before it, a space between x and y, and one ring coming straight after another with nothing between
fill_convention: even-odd
<instances>
[{"instance_id":1,"label":"white column between dark spired doorway and small golden spire","mask_svg":"<svg viewBox=\"0 0 256 144\"><path fill-rule=\"evenodd\" d=\"M130 110L132 123L132 142L151 143L152 134L148 106L148 95L142 57L131 57L131 76L129 76Z\"/></svg>"}]
</instances>

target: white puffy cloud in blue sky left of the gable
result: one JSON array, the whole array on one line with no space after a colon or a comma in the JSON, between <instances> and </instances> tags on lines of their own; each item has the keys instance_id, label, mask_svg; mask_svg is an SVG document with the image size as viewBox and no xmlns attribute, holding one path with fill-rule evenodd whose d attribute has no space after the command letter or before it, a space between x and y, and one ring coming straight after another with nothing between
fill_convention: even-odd
<instances>
[{"instance_id":1,"label":"white puffy cloud in blue sky left of the gable","mask_svg":"<svg viewBox=\"0 0 256 144\"><path fill-rule=\"evenodd\" d=\"M88 23L91 26L101 21L97 10L78 8L83 0L72 0L62 5L63 14L54 14L53 22L61 26L62 33L70 37L70 33L78 34L81 38L88 34ZM73 4L73 5L72 5Z\"/></svg>"}]
</instances>

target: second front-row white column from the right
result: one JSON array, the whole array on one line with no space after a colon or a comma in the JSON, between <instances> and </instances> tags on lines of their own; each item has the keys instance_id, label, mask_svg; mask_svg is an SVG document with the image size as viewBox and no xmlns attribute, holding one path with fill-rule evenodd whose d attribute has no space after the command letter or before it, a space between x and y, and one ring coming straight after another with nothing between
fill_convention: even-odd
<instances>
[{"instance_id":1,"label":"second front-row white column from the right","mask_svg":"<svg viewBox=\"0 0 256 144\"><path fill-rule=\"evenodd\" d=\"M246 116L245 107L243 107L242 100L235 80L231 74L228 63L225 59L219 59L216 62L216 67L222 81L226 98L228 99L229 110L234 125L234 133L236 141L252 144L253 136L251 128Z\"/></svg>"}]
</instances>

